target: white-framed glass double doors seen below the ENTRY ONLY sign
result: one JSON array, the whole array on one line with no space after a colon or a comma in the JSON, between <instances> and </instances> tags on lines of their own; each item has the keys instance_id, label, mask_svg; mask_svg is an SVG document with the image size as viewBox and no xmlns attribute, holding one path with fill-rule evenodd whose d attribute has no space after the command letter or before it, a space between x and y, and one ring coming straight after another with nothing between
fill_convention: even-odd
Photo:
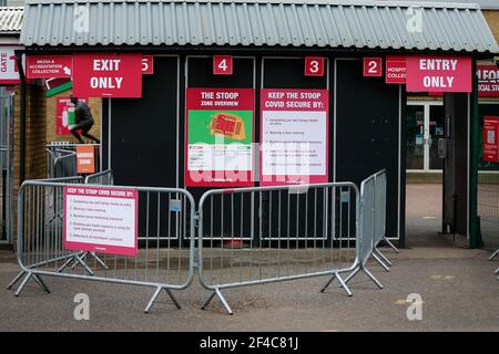
<instances>
[{"instance_id":1,"label":"white-framed glass double doors seen below the ENTRY ONLY sign","mask_svg":"<svg viewBox=\"0 0 499 354\"><path fill-rule=\"evenodd\" d=\"M438 139L444 137L444 104L441 101L407 102L407 170L441 171Z\"/></svg>"}]
</instances>

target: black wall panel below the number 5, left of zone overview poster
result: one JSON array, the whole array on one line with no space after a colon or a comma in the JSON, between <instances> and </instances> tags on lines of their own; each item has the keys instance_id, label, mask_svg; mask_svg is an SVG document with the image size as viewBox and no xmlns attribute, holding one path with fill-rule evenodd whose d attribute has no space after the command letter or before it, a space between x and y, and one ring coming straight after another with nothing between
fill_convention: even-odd
<instances>
[{"instance_id":1,"label":"black wall panel below the number 5, left of zone overview poster","mask_svg":"<svg viewBox=\"0 0 499 354\"><path fill-rule=\"evenodd\" d=\"M104 100L103 152L111 149L116 185L176 186L176 95L177 59L156 56L154 75L143 75L142 98L112 98L111 127Z\"/></svg>"}]
</instances>

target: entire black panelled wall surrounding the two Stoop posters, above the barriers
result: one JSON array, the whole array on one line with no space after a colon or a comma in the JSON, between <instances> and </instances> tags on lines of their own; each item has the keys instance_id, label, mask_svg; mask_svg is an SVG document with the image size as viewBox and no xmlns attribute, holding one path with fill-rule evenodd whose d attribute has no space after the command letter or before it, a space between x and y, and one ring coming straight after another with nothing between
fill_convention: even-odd
<instances>
[{"instance_id":1,"label":"entire black panelled wall surrounding the two Stoop posters, above the barriers","mask_svg":"<svg viewBox=\"0 0 499 354\"><path fill-rule=\"evenodd\" d=\"M304 76L303 59L265 59L263 83L262 58L234 58L234 74L214 76L212 58L190 58L184 76L185 56L155 56L154 75L143 76L143 97L112 100L111 126L108 106L103 106L103 166L111 168L120 185L183 187L184 111L186 87L253 87L255 80L255 142L259 140L259 92L266 88L326 88L327 76ZM384 77L363 77L361 60L337 61L336 122L334 122L334 59L329 59L329 180L352 180L357 185L368 175L386 168L388 173L387 236L397 236L398 179L405 183L405 169L399 170L399 86L387 85ZM179 88L179 142L177 137ZM405 96L403 97L405 100ZM405 101L403 101L405 102ZM334 128L336 124L336 142ZM109 144L109 132L111 139ZM404 143L405 144L405 143ZM403 146L404 146L403 144ZM179 157L177 157L179 146ZM336 148L336 150L335 150ZM405 156L405 155L403 155ZM336 160L335 160L336 158ZM257 185L257 184L256 184ZM404 186L404 185L403 185ZM190 188L198 199L206 188ZM404 190L404 189L403 189ZM401 216L405 209L401 195ZM401 218L403 219L403 218ZM404 228L401 228L404 237Z\"/></svg>"}]
</instances>

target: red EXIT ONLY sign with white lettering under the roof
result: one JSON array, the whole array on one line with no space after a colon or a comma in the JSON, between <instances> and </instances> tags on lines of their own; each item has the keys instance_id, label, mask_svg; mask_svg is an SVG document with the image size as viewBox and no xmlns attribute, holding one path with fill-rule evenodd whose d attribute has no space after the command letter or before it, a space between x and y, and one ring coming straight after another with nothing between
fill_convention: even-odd
<instances>
[{"instance_id":1,"label":"red EXIT ONLY sign with white lettering under the roof","mask_svg":"<svg viewBox=\"0 0 499 354\"><path fill-rule=\"evenodd\" d=\"M73 94L83 97L141 97L142 54L74 54Z\"/></svg>"}]
</instances>

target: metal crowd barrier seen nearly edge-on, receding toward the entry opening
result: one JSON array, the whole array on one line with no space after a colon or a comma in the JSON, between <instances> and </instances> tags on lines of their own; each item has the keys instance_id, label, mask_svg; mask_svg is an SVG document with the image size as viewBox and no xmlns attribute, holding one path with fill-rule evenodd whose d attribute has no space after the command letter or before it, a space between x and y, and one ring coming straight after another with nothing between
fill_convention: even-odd
<instances>
[{"instance_id":1,"label":"metal crowd barrier seen nearly edge-on, receding toward the entry opening","mask_svg":"<svg viewBox=\"0 0 499 354\"><path fill-rule=\"evenodd\" d=\"M386 271L391 262L377 248L384 240L396 252L398 249L386 238L386 170L383 169L360 184L360 262L355 271L345 279L348 283L359 271L364 271L373 282L383 289L383 284L366 268L373 257Z\"/></svg>"}]
</instances>

